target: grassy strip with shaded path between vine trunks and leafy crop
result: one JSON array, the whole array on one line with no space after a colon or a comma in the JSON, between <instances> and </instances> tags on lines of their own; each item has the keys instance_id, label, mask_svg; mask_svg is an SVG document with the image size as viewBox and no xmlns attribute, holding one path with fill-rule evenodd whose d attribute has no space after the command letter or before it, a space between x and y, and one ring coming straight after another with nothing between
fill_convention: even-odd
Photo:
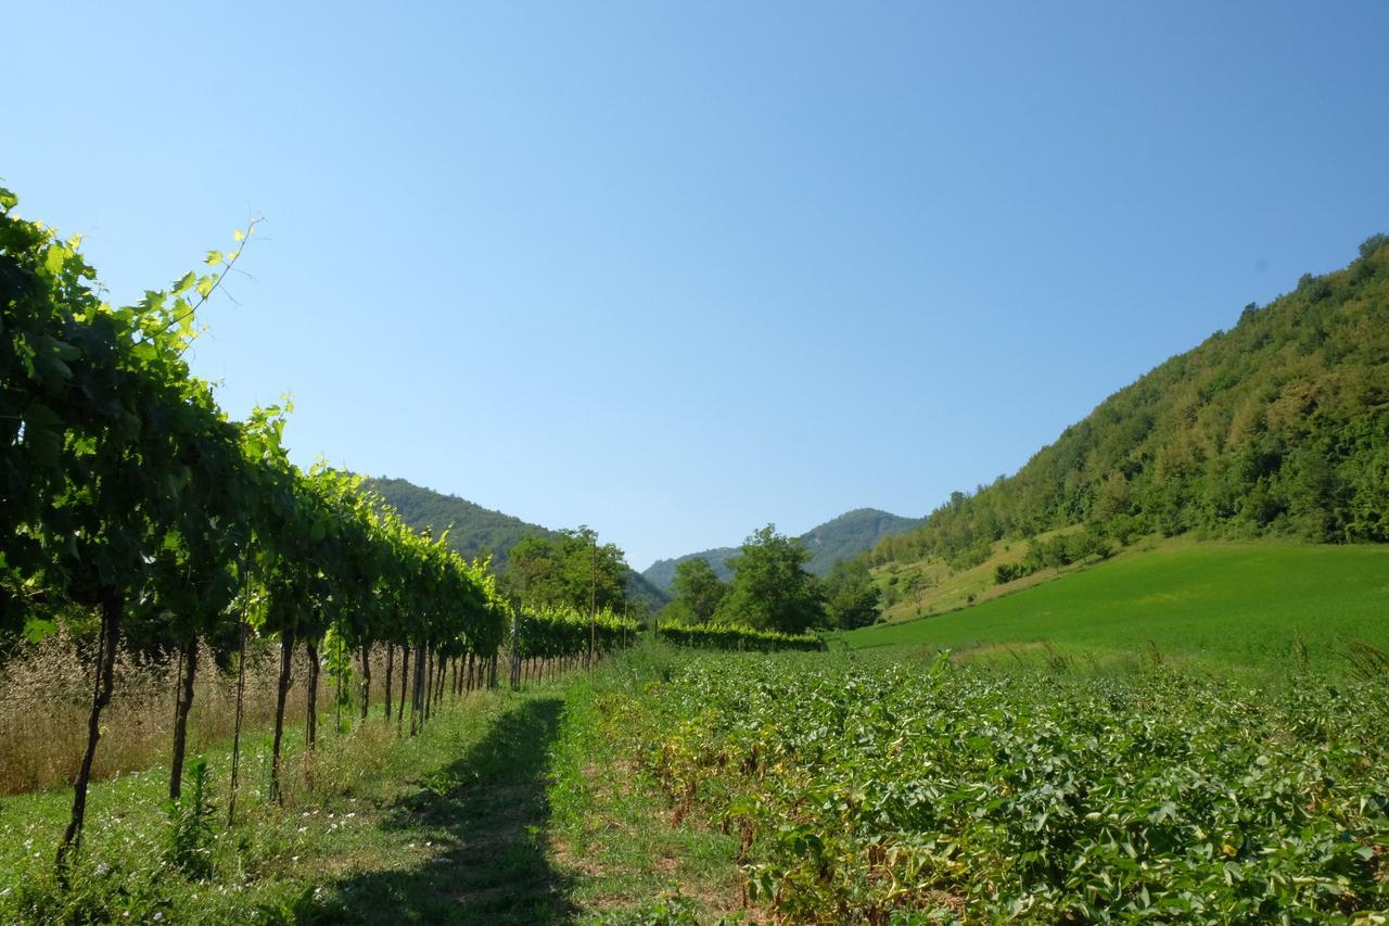
<instances>
[{"instance_id":1,"label":"grassy strip with shaded path between vine trunks and leafy crop","mask_svg":"<svg viewBox=\"0 0 1389 926\"><path fill-rule=\"evenodd\" d=\"M53 855L71 790L0 798L0 922L706 922L740 897L729 837L671 826L606 715L613 685L643 685L672 658L657 648L593 680L475 692L418 737L376 715L321 734L314 788L292 759L285 808L263 797L268 744L253 731L232 830L229 756L207 755L207 877L169 862L165 767L92 786L69 890Z\"/></svg>"}]
</instances>

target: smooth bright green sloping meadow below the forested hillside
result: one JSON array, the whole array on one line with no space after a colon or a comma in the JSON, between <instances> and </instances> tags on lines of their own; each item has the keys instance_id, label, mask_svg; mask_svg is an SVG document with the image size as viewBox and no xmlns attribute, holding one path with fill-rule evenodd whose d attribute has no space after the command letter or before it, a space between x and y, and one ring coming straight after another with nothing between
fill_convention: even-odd
<instances>
[{"instance_id":1,"label":"smooth bright green sloping meadow below the forested hillside","mask_svg":"<svg viewBox=\"0 0 1389 926\"><path fill-rule=\"evenodd\" d=\"M846 634L853 648L925 645L976 655L1043 642L1070 656L1272 669L1343 669L1351 640L1389 647L1389 546L1207 542L1124 556L947 615Z\"/></svg>"}]
</instances>

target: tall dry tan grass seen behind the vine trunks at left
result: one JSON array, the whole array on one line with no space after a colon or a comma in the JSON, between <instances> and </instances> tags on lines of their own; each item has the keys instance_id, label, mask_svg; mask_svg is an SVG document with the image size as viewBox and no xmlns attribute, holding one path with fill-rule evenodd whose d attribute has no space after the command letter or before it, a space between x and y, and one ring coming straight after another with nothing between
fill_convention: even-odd
<instances>
[{"instance_id":1,"label":"tall dry tan grass seen behind the vine trunks at left","mask_svg":"<svg viewBox=\"0 0 1389 926\"><path fill-rule=\"evenodd\" d=\"M265 729L275 719L279 647L258 642L246 653L243 729ZM236 719L236 674L215 667L213 653L199 653L199 677L188 722L188 751L232 738ZM375 663L376 659L372 659ZM376 673L381 672L378 676ZM385 665L372 667L372 698L379 698ZM303 651L294 658L294 685L286 722L303 723L308 667ZM168 762L174 740L175 660L142 660L121 652L115 692L101 712L101 742L92 767L94 779ZM319 674L319 708L332 708L326 673ZM92 708L93 666L72 638L58 633L0 665L0 794L19 794L76 776L86 744Z\"/></svg>"}]
</instances>

